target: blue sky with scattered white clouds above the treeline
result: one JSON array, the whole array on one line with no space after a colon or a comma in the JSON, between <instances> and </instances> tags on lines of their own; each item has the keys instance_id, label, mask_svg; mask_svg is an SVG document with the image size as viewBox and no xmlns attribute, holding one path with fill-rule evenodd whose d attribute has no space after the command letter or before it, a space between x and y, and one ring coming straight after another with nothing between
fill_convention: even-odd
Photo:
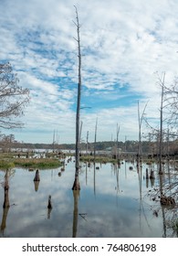
<instances>
[{"instance_id":1,"label":"blue sky with scattered white clouds above the treeline","mask_svg":"<svg viewBox=\"0 0 178 256\"><path fill-rule=\"evenodd\" d=\"M78 8L81 44L81 139L138 140L140 111L159 125L165 72L178 67L176 0L0 0L0 62L9 61L30 90L24 128L3 130L26 143L75 143L78 95ZM147 133L144 123L142 131ZM142 133L143 133L142 132Z\"/></svg>"}]
</instances>

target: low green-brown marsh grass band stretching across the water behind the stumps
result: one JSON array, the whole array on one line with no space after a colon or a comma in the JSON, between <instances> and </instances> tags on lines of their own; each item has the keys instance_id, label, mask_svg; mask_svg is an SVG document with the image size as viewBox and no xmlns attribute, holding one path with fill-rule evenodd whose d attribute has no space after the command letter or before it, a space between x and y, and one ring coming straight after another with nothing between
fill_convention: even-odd
<instances>
[{"instance_id":1,"label":"low green-brown marsh grass band stretching across the water behind the stumps","mask_svg":"<svg viewBox=\"0 0 178 256\"><path fill-rule=\"evenodd\" d=\"M58 153L46 153L46 157L35 158L34 153L26 152L9 152L0 153L0 169L14 168L14 167L24 167L24 168L58 168L62 165L61 162L64 161L66 156L74 156L75 154L58 154ZM40 154L39 154L40 155ZM123 160L126 162L132 162L135 160L134 155L120 155L120 160L113 159L111 155L80 155L79 160L81 162L95 162L101 164L121 164ZM147 157L142 157L142 163L147 165L152 165L152 163L157 163L157 159L148 159ZM164 161L162 161L164 162ZM170 162L174 162L177 165L176 160L170 159ZM164 163L163 163L164 164Z\"/></svg>"}]
</instances>

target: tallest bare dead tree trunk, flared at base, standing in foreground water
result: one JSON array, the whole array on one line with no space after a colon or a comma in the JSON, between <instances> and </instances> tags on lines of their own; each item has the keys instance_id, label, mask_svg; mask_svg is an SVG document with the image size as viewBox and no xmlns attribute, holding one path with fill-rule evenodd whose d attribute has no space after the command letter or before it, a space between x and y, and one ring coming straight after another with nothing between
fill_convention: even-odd
<instances>
[{"instance_id":1,"label":"tallest bare dead tree trunk, flared at base, standing in foreground water","mask_svg":"<svg viewBox=\"0 0 178 256\"><path fill-rule=\"evenodd\" d=\"M80 112L80 98L81 98L81 51L80 51L80 36L79 36L79 16L78 16L78 9L74 5L76 10L76 22L74 21L74 25L77 27L77 38L75 40L78 43L78 58L79 58L79 69L78 69L78 101L77 101L77 112L76 112L76 171L75 171L75 179L72 190L79 190L79 112Z\"/></svg>"}]
</instances>

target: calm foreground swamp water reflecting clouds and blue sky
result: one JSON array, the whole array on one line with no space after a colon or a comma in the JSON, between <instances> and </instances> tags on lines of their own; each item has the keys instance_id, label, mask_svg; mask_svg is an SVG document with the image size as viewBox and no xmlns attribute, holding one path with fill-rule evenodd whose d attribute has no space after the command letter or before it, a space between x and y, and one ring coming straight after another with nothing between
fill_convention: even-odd
<instances>
[{"instance_id":1,"label":"calm foreground swamp water reflecting clouds and blue sky","mask_svg":"<svg viewBox=\"0 0 178 256\"><path fill-rule=\"evenodd\" d=\"M3 209L5 172L0 171L0 237L162 237L170 236L165 227L165 212L148 192L158 185L157 177L145 178L136 166L123 162L114 165L81 164L81 190L73 193L75 163L60 168L39 170L40 182L34 184L35 171L16 168L9 177L10 208ZM149 167L148 167L149 168ZM48 196L52 210L47 209ZM155 215L155 209L157 214Z\"/></svg>"}]
</instances>

